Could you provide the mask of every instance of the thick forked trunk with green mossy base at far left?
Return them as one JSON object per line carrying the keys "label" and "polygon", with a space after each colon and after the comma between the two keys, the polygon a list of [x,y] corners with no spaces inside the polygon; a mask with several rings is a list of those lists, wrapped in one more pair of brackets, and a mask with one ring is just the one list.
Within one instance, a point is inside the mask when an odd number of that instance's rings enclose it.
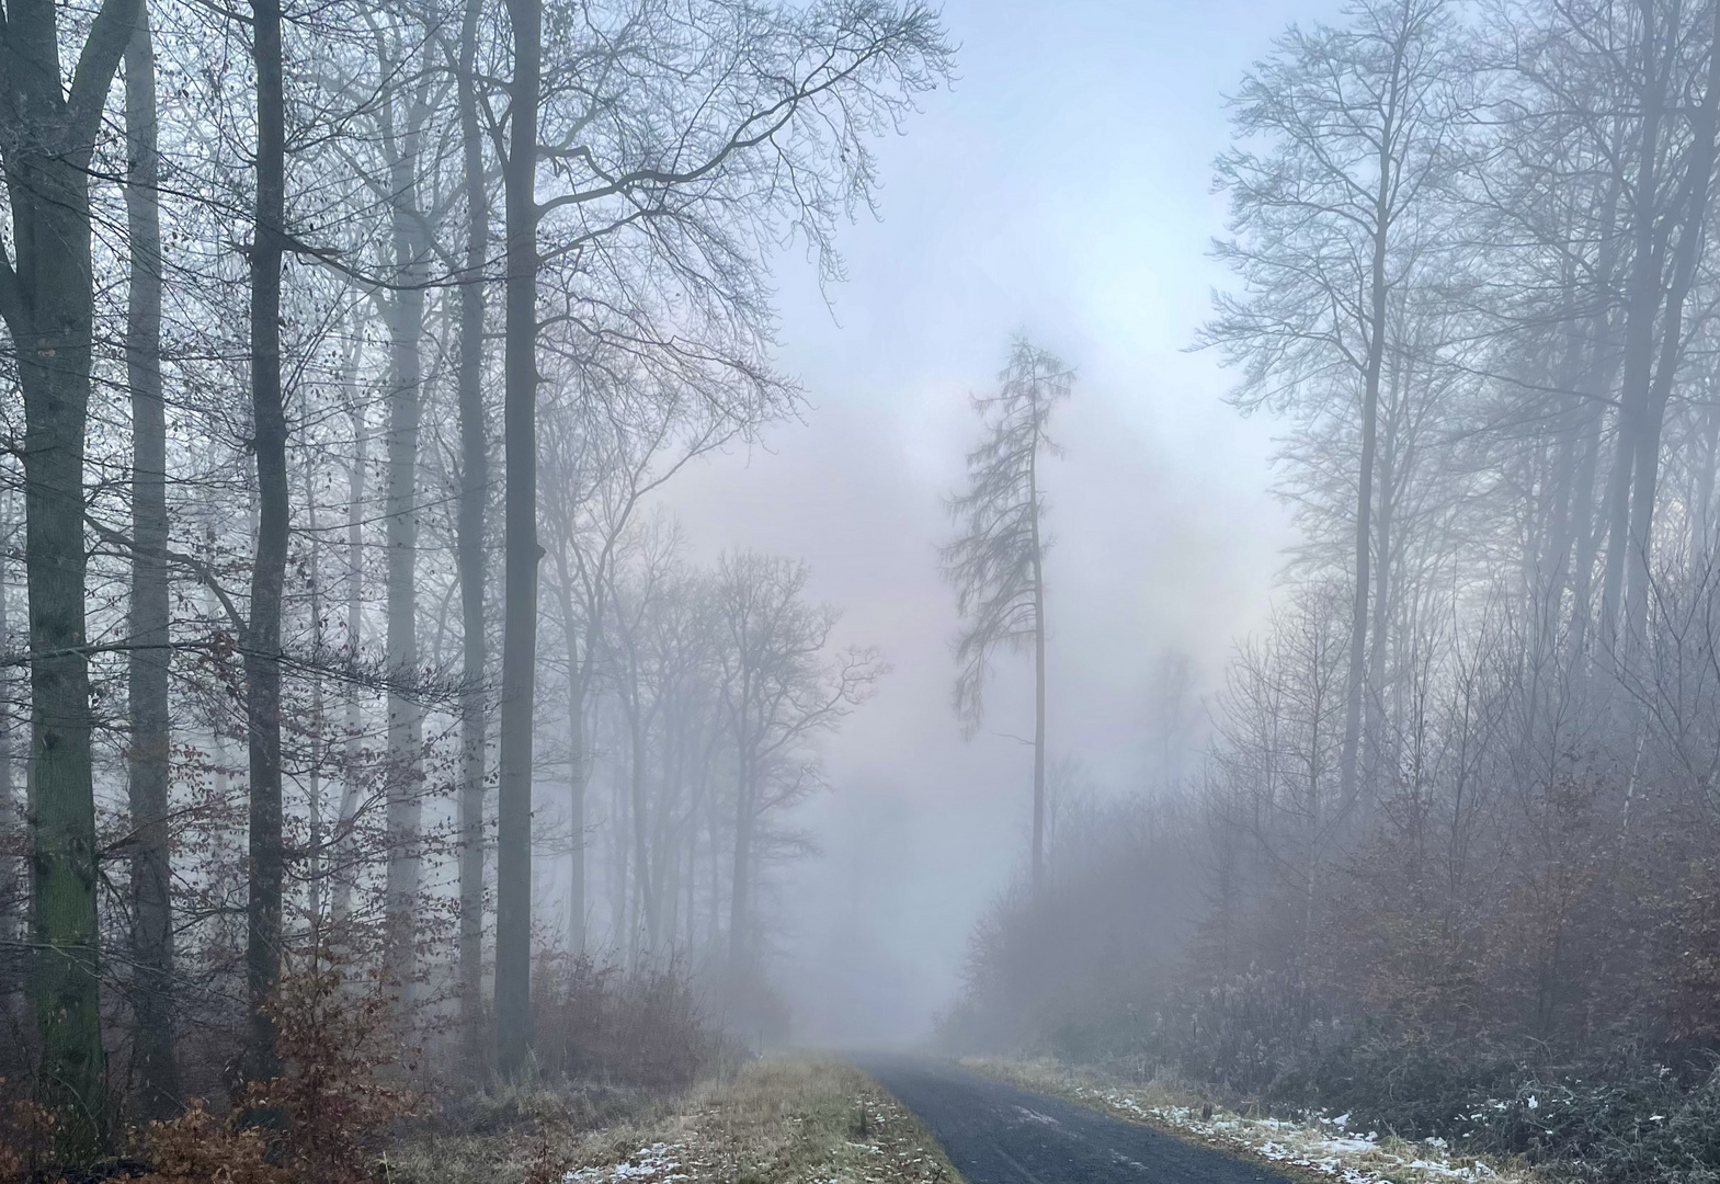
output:
{"label": "thick forked trunk with green mossy base at far left", "polygon": [[31,986],[41,1100],[60,1119],[60,1158],[84,1162],[107,1143],[84,649],[84,430],[95,336],[89,163],[138,10],[136,0],[103,0],[69,91],[58,12],[50,0],[14,0],[0,24],[9,81],[0,157],[14,244],[10,265],[0,256],[0,317],[10,329],[24,392]]}

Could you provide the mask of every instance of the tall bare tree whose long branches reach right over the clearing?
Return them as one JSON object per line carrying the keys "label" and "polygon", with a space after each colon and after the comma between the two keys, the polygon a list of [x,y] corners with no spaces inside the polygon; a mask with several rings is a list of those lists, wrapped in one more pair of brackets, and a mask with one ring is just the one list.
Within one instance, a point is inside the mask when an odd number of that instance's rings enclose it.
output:
{"label": "tall bare tree whose long branches reach right over the clearing", "polygon": [[[538,330],[616,342],[676,367],[769,382],[762,282],[774,227],[793,227],[836,277],[834,225],[870,200],[872,133],[948,72],[936,14],[913,2],[769,9],[709,0],[688,19],[642,0],[542,60],[544,12],[509,5],[514,36],[507,207],[504,444],[506,597],[497,893],[499,1065],[530,1045],[530,768],[537,637]],[[588,10],[581,10],[581,24]],[[592,79],[597,79],[593,84]],[[664,81],[669,79],[669,81]],[[538,120],[538,83],[544,120]],[[530,124],[530,126],[528,126]],[[556,188],[537,198],[537,162]],[[745,219],[736,219],[746,210]],[[540,251],[540,237],[542,251]],[[628,260],[642,253],[643,274]],[[609,263],[585,267],[593,256]],[[538,268],[568,277],[538,320]],[[609,286],[619,286],[619,291]],[[688,349],[688,318],[710,342]],[[709,336],[707,336],[709,334]]]}

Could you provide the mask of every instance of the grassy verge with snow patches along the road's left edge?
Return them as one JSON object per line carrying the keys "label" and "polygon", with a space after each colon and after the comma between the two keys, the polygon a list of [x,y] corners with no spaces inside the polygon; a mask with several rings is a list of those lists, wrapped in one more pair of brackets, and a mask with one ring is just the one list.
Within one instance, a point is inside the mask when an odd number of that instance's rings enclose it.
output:
{"label": "grassy verge with snow patches along the road's left edge", "polygon": [[576,1129],[420,1136],[392,1184],[961,1184],[937,1143],[863,1072],[767,1057],[671,1100]]}

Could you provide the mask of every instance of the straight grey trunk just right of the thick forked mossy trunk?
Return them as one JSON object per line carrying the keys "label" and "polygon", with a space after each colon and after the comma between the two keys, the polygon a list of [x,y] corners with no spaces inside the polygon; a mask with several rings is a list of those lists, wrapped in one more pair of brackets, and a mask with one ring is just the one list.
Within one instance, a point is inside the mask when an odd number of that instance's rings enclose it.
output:
{"label": "straight grey trunk just right of the thick forked mossy trunk", "polygon": [[131,902],[132,1043],[138,1110],[179,1108],[175,1060],[172,876],[167,793],[172,740],[167,711],[167,413],[162,404],[162,215],[155,146],[155,48],[150,15],[126,46],[126,222],[131,291],[126,379],[131,385]]}

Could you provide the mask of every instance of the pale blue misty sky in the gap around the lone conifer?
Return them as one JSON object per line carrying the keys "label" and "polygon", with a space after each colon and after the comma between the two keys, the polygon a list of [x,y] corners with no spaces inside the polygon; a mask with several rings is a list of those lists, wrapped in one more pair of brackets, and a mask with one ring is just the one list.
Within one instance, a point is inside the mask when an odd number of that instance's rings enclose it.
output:
{"label": "pale blue misty sky in the gap around the lone conifer", "polygon": [[834,792],[805,811],[824,857],[788,881],[781,977],[807,1039],[924,1031],[967,933],[1025,852],[1025,663],[999,671],[989,726],[948,709],[955,630],[936,547],[941,494],[974,441],[967,392],[1029,332],[1080,372],[1047,477],[1053,755],[1127,788],[1166,649],[1211,685],[1257,626],[1288,540],[1271,499],[1273,425],[1223,403],[1189,355],[1225,275],[1211,162],[1223,93],[1319,0],[949,3],[953,91],[879,146],[882,220],[841,239],[834,315],[798,256],[781,272],[786,370],[814,408],[767,451],[719,458],[667,501],[702,554],[805,558],[843,633],[894,666],[829,745]]}

